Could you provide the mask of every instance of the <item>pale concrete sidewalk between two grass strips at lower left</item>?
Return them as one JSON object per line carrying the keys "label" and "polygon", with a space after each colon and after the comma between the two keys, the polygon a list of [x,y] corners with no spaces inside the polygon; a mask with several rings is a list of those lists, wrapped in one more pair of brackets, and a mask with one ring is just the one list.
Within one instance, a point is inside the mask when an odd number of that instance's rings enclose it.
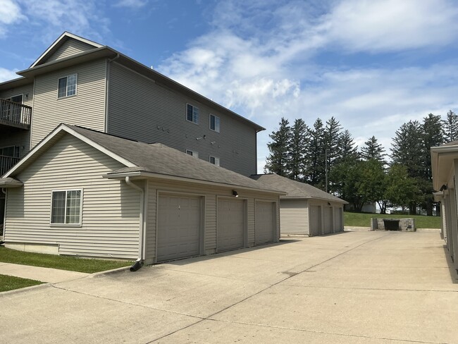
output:
{"label": "pale concrete sidewalk between two grass strips at lower left", "polygon": [[45,283],[60,283],[73,281],[78,278],[89,276],[83,272],[66,271],[39,266],[29,266],[0,262],[0,275],[30,278]]}

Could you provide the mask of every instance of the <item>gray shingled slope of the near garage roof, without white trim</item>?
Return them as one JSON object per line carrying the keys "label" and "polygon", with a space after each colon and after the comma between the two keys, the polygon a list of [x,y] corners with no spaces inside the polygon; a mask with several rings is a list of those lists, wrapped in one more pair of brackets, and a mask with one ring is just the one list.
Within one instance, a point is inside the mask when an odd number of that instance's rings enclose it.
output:
{"label": "gray shingled slope of the near garage roof, without white trim", "polygon": [[[163,176],[204,180],[244,188],[254,188],[256,190],[273,190],[268,185],[259,183],[252,178],[213,165],[202,159],[197,159],[185,152],[180,152],[177,149],[160,143],[147,144],[74,125],[67,126],[105,149],[108,149],[110,152],[135,164],[133,167],[126,166],[125,168],[113,171],[111,174],[144,171]],[[277,192],[276,190],[273,191]]]}

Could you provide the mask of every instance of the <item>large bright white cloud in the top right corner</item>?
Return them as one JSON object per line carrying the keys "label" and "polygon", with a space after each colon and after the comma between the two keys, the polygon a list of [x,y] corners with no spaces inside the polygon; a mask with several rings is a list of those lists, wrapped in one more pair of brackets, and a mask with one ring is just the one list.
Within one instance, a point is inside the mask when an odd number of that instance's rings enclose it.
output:
{"label": "large bright white cloud in the top right corner", "polygon": [[399,51],[457,39],[458,8],[449,0],[347,0],[322,25],[330,44],[349,51]]}

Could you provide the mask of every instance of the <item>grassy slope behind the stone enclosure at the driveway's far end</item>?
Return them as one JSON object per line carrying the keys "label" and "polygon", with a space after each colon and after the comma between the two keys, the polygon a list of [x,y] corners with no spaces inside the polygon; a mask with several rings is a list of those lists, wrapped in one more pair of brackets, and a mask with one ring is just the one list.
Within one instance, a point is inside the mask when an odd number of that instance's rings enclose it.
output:
{"label": "grassy slope behind the stone enclosure at the driveway's far end", "polygon": [[440,228],[441,218],[439,216],[423,215],[389,215],[389,214],[362,214],[344,212],[344,226],[370,227],[371,218],[377,219],[415,219],[416,228]]}

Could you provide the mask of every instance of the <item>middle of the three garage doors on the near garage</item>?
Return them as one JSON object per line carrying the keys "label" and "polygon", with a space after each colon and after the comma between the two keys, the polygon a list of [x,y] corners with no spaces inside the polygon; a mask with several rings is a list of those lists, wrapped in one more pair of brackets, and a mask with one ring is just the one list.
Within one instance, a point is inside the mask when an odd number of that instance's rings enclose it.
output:
{"label": "middle of the three garage doors on the near garage", "polygon": [[244,246],[245,206],[243,199],[218,199],[218,251]]}

